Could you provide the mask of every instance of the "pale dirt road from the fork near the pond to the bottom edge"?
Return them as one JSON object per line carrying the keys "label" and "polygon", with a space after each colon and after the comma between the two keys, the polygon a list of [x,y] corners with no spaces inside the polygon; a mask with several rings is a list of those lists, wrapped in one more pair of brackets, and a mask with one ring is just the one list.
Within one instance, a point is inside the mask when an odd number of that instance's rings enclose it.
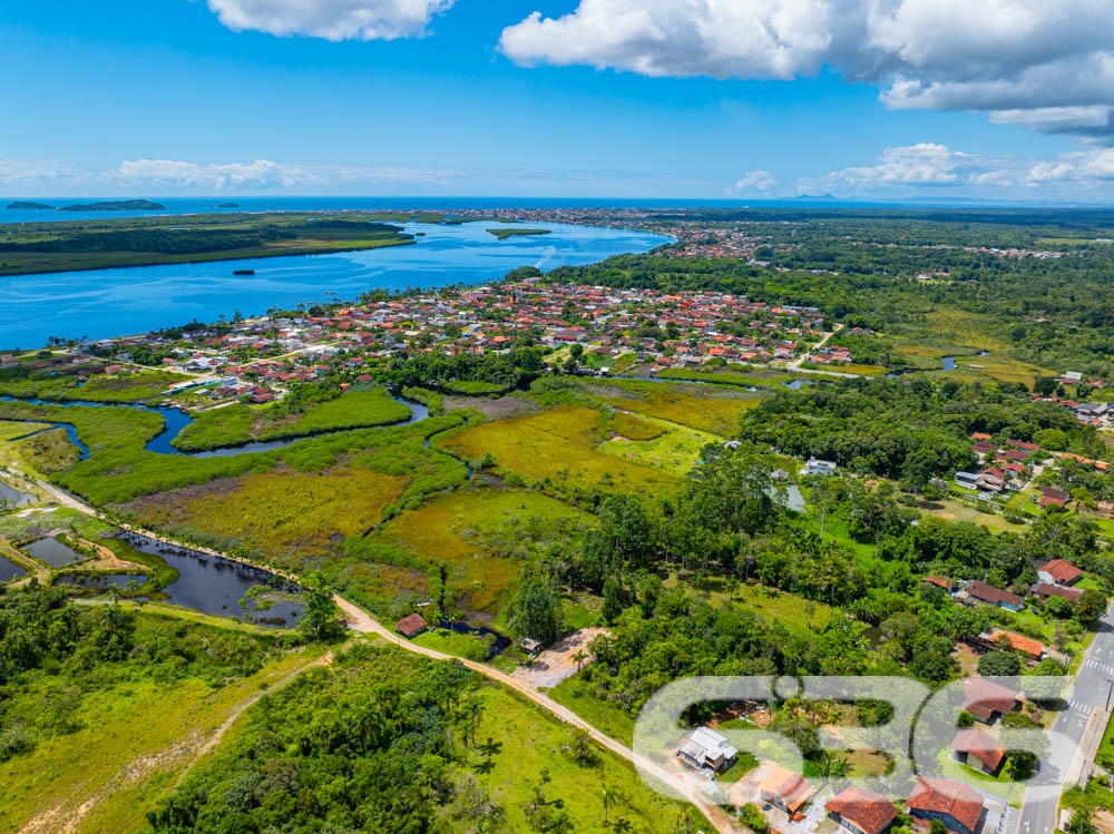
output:
{"label": "pale dirt road from the fork near the pond to the bottom edge", "polygon": [[700,810],[702,814],[712,823],[713,827],[720,832],[720,834],[736,834],[737,832],[746,831],[737,823],[735,823],[719,805],[709,801],[709,798],[701,792],[697,787],[694,787],[688,782],[683,778],[678,778],[677,774],[670,773],[661,765],[651,762],[645,756],[639,756],[637,753],[632,750],[626,745],[620,742],[615,740],[608,735],[600,733],[598,729],[593,727],[580,716],[574,713],[568,707],[558,704],[556,700],[550,698],[544,693],[539,693],[532,687],[526,686],[521,680],[512,678],[510,675],[506,675],[498,669],[492,669],[486,664],[476,663],[475,660],[466,660],[461,657],[456,657],[453,655],[446,655],[436,649],[426,648],[424,646],[418,646],[410,640],[404,640],[397,634],[393,634],[387,629],[385,626],[380,624],[378,620],[373,619],[371,615],[364,611],[362,608],[349,602],[346,599],[339,595],[333,596],[333,600],[336,602],[338,607],[344,614],[345,620],[348,620],[349,627],[353,631],[360,631],[362,634],[373,634],[382,637],[388,642],[395,644],[399,648],[405,649],[407,651],[412,651],[416,655],[422,655],[424,657],[432,658],[434,660],[458,660],[465,666],[467,666],[472,671],[479,673],[491,680],[496,680],[517,693],[520,693],[525,697],[529,698],[531,701],[540,706],[543,709],[551,713],[559,720],[565,724],[569,724],[574,727],[578,727],[588,733],[596,742],[602,744],[604,747],[609,749],[612,753],[622,756],[627,762],[633,764],[643,773],[649,773],[659,782],[668,785],[671,788],[676,791],[678,794],[685,797],[692,805]]}

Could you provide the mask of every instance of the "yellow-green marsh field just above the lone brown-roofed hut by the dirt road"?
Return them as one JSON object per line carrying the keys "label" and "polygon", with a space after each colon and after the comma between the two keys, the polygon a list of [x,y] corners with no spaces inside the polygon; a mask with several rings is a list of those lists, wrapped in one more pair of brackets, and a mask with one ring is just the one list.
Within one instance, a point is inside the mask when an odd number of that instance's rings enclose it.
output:
{"label": "yellow-green marsh field just above the lone brown-roofed hut by the dirt road", "polygon": [[408,510],[380,538],[447,568],[455,605],[494,615],[535,541],[577,537],[588,516],[525,490],[468,489]]}

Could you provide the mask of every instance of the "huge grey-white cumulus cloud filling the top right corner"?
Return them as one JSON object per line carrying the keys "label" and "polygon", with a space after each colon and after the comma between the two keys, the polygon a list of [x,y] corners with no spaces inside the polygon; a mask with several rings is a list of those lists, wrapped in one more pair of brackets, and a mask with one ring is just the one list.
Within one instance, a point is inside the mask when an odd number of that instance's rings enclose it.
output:
{"label": "huge grey-white cumulus cloud filling the top right corner", "polygon": [[522,65],[791,79],[829,66],[895,108],[1114,136],[1108,0],[580,0],[504,30]]}

